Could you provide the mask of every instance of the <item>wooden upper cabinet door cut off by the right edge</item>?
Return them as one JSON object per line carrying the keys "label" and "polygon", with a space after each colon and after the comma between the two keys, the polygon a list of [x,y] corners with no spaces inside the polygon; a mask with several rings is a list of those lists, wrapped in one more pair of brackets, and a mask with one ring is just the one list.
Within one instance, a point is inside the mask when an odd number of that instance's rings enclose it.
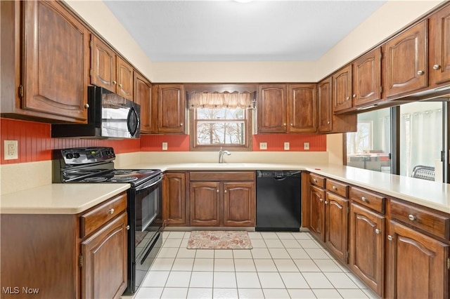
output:
{"label": "wooden upper cabinet door cut off by the right edge", "polygon": [[450,6],[439,9],[430,19],[430,84],[450,81]]}

